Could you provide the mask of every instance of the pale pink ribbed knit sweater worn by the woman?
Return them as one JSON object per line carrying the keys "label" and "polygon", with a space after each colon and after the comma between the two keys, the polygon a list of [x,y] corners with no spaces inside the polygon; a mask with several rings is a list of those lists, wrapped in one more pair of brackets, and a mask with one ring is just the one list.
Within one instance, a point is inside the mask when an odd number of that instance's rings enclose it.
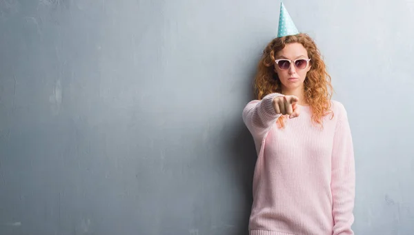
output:
{"label": "pale pink ribbed knit sweater worn by the woman", "polygon": [[324,117],[323,130],[312,123],[309,106],[280,129],[272,105],[279,95],[243,110],[258,156],[250,235],[354,234],[355,162],[344,106],[331,101],[334,116]]}

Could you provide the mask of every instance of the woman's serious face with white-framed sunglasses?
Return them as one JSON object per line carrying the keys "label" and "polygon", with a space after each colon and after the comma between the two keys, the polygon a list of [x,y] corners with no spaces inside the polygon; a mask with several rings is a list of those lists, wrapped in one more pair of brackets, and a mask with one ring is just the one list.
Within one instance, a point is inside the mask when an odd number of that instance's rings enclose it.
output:
{"label": "woman's serious face with white-framed sunglasses", "polygon": [[275,72],[282,83],[282,90],[291,92],[303,89],[306,74],[311,70],[311,61],[306,61],[308,52],[304,46],[301,43],[288,43],[275,55],[275,60],[279,60],[278,63],[275,61]]}

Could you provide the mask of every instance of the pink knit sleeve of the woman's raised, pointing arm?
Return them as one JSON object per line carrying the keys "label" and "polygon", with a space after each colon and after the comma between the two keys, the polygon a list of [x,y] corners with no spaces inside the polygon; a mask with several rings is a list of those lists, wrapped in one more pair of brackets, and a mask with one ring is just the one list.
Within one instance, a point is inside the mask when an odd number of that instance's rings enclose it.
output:
{"label": "pink knit sleeve of the woman's raised, pointing arm", "polygon": [[279,116],[282,116],[282,114],[276,114],[273,108],[273,99],[277,96],[283,96],[283,94],[268,94],[261,101],[250,101],[244,108],[243,121],[253,138],[263,139]]}

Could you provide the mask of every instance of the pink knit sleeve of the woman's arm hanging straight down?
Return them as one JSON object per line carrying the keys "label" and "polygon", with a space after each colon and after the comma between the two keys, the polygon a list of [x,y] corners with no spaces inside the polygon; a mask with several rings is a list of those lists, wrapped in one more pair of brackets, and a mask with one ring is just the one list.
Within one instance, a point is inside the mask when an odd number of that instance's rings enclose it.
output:
{"label": "pink knit sleeve of the woman's arm hanging straight down", "polygon": [[351,225],[354,222],[355,159],[346,110],[342,105],[341,108],[332,155],[333,235],[353,235]]}

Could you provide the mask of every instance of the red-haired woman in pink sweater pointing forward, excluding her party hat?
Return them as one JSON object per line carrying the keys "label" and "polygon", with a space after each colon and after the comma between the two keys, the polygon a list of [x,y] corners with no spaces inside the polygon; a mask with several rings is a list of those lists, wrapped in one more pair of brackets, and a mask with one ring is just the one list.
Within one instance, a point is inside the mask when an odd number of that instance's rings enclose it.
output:
{"label": "red-haired woman in pink sweater pointing forward, excluding her party hat", "polygon": [[277,37],[258,67],[243,110],[258,156],[250,235],[354,234],[351,130],[315,42]]}

